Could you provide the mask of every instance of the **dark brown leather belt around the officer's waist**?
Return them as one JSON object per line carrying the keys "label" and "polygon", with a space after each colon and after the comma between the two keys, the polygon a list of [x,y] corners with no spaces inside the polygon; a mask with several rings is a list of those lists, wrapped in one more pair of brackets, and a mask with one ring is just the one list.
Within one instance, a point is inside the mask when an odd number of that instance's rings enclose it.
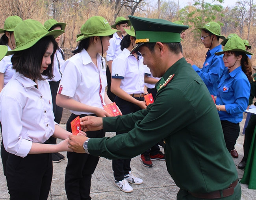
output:
{"label": "dark brown leather belt around the officer's waist", "polygon": [[188,193],[196,198],[204,198],[204,199],[216,199],[216,198],[227,197],[234,194],[234,188],[236,187],[237,183],[238,183],[238,179],[233,183],[231,183],[227,189],[214,191],[211,193],[191,193],[189,191]]}

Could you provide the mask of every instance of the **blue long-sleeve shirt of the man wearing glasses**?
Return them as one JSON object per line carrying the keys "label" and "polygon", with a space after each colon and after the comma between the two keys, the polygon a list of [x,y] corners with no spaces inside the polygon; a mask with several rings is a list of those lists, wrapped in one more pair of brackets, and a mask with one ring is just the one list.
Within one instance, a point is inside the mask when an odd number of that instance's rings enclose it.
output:
{"label": "blue long-sleeve shirt of the man wearing glasses", "polygon": [[216,56],[214,53],[222,51],[221,45],[208,51],[202,69],[192,65],[193,69],[202,78],[210,94],[217,95],[217,87],[224,70],[223,54]]}

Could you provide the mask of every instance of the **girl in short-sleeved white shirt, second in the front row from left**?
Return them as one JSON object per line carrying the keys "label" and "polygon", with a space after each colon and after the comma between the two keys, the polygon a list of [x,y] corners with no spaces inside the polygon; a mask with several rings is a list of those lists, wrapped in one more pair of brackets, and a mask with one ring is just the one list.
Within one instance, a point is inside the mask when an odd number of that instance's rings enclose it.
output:
{"label": "girl in short-sleeved white shirt, second in the front row from left", "polygon": [[[64,63],[64,72],[56,97],[57,105],[71,111],[67,121],[67,131],[71,132],[70,122],[76,117],[94,115],[110,116],[103,106],[112,103],[105,87],[106,67],[103,54],[109,46],[109,39],[117,30],[111,29],[108,21],[100,16],[89,18],[78,35],[78,47],[74,56]],[[104,137],[105,131],[88,131],[90,137]],[[69,200],[90,200],[91,176],[99,157],[89,154],[67,153],[68,164],[65,175],[65,189]]]}

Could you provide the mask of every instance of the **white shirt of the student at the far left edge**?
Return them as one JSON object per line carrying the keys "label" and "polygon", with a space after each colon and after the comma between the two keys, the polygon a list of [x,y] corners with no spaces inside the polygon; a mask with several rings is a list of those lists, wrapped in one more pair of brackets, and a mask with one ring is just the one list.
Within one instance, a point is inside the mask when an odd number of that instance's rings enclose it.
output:
{"label": "white shirt of the student at the far left edge", "polygon": [[[11,48],[7,45],[8,51],[11,51]],[[13,77],[13,74],[15,73],[15,70],[12,69],[13,64],[11,63],[11,57],[10,56],[5,56],[1,61],[0,61],[0,73],[4,74],[4,86],[11,80]]]}

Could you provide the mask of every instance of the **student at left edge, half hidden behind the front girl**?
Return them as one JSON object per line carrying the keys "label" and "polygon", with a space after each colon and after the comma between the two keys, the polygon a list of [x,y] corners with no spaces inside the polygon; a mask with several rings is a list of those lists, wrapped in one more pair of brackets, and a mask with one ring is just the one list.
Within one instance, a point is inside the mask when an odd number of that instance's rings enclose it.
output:
{"label": "student at left edge, half hidden behind the front girl", "polygon": [[[17,16],[10,16],[4,21],[4,28],[0,28],[0,33],[4,33],[0,39],[0,45],[6,45],[8,50],[13,50],[15,48],[15,38],[13,30],[17,24],[22,22],[22,19]],[[15,70],[12,69],[11,56],[5,56],[0,61],[0,92],[4,86],[11,80]],[[2,124],[0,122],[0,127],[2,130]],[[2,135],[2,131],[1,131]],[[4,148],[3,140],[1,141],[1,158],[3,163],[4,175],[6,175],[6,160],[8,158],[8,152]]]}

